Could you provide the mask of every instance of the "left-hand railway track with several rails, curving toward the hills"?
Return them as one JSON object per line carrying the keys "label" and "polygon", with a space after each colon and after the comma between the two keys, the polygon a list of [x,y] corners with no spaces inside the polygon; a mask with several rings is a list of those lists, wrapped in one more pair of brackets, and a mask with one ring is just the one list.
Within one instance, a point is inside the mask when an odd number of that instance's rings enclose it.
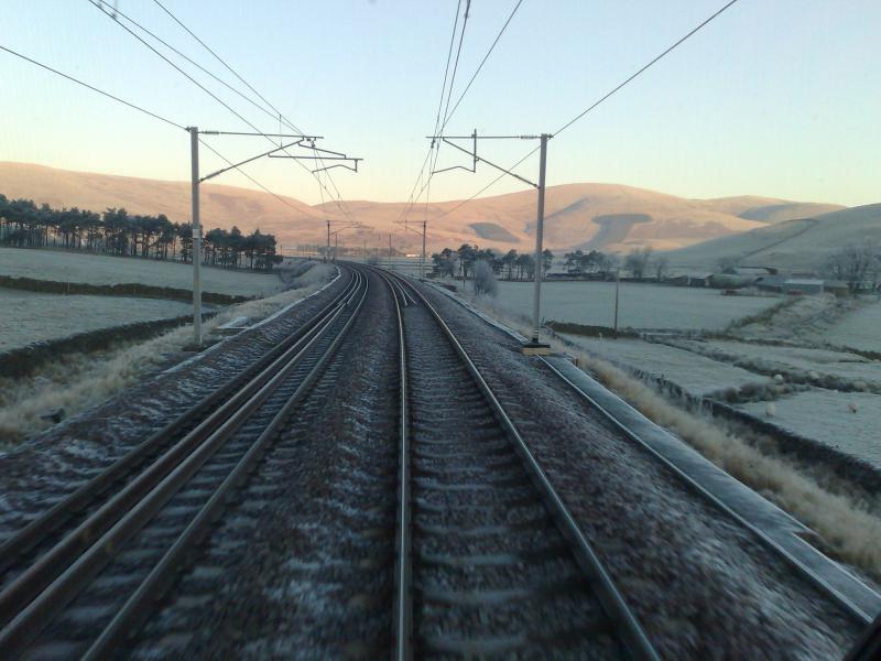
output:
{"label": "left-hand railway track with several rails, curving toward the hills", "polygon": [[344,291],[259,365],[0,550],[3,658],[105,658],[149,614],[326,367],[368,293]]}

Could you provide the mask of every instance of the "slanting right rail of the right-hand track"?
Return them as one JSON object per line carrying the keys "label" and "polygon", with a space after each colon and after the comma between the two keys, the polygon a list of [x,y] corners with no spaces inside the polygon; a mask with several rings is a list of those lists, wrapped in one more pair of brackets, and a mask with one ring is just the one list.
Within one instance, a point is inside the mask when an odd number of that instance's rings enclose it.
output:
{"label": "slanting right rail of the right-hand track", "polygon": [[435,310],[435,307],[422,294],[422,292],[420,292],[415,286],[413,286],[412,283],[407,282],[400,275],[392,274],[392,277],[399,282],[403,283],[413,294],[415,294],[415,299],[429,312],[432,317],[435,319],[435,322],[437,322],[438,326],[443,330],[444,335],[449,340],[456,354],[459,356],[459,358],[461,358],[467,371],[471,375],[471,378],[474,379],[478,389],[482,392],[485,399],[493,411],[493,414],[514,446],[514,449],[523,459],[524,466],[526,467],[533,484],[542,495],[546,507],[554,516],[561,532],[572,544],[572,550],[579,565],[592,579],[600,605],[606,611],[607,617],[609,617],[611,620],[626,652],[634,660],[660,661],[657,652],[652,647],[635,616],[628,607],[623,596],[614,586],[611,576],[606,571],[596,552],[590,546],[586,535],[575,521],[575,518],[568,511],[568,508],[566,508],[566,505],[563,502],[563,499],[559,497],[556,489],[554,489],[541,465],[535,459],[532,451],[530,451],[516,426],[505,413],[501,403],[496,398],[496,394],[483,379],[483,376],[471,360],[465,347],[461,346],[456,335],[453,333],[446,322],[444,322],[437,310]]}

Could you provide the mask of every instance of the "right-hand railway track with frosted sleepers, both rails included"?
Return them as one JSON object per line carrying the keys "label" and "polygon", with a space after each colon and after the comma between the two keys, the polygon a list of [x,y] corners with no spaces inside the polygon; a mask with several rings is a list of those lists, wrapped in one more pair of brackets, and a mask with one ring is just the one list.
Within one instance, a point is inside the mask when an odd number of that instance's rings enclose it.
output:
{"label": "right-hand railway track with frosted sleepers, both rails included", "polygon": [[656,659],[455,335],[384,278],[401,371],[393,658]]}

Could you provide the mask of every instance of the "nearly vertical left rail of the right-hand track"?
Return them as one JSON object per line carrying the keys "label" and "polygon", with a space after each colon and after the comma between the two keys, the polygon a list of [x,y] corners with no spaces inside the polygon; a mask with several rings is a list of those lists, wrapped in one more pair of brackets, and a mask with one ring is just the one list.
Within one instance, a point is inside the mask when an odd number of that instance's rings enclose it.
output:
{"label": "nearly vertical left rail of the right-hand track", "polygon": [[[406,342],[404,338],[404,317],[401,314],[401,301],[407,306],[407,299],[403,288],[395,280],[383,272],[380,275],[389,285],[394,302],[395,318],[398,319],[398,368],[399,368],[399,458],[398,458],[398,530],[395,537],[396,566],[394,572],[394,649],[392,659],[395,661],[410,661],[413,659],[413,598],[412,583],[413,570],[411,564],[411,532],[412,520],[410,507],[410,407],[407,403],[406,379]],[[395,290],[395,284],[398,288]]]}

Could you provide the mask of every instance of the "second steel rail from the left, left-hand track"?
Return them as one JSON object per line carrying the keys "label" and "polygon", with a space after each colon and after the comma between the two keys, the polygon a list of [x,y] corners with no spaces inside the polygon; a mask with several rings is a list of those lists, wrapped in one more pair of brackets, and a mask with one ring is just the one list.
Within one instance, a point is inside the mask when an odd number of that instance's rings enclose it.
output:
{"label": "second steel rail from the left, left-hand track", "polygon": [[88,549],[129,508],[167,476],[184,457],[193,453],[217,430],[222,429],[225,422],[246,405],[254,393],[260,392],[267,383],[271,382],[274,376],[303,350],[304,346],[311,344],[326,325],[333,323],[333,318],[338,314],[342,302],[339,302],[333,306],[329,312],[318,318],[316,324],[312,325],[305,334],[265,367],[263,371],[231,398],[227,399],[196,429],[184,435],[176,444],[160,455],[155,462],[112,495],[100,508],[90,513],[79,525],[67,533],[66,537],[41,555],[0,592],[0,625],[4,625],[12,619],[20,611],[22,605],[32,602],[43,588],[57,578],[75,561],[79,553]]}

